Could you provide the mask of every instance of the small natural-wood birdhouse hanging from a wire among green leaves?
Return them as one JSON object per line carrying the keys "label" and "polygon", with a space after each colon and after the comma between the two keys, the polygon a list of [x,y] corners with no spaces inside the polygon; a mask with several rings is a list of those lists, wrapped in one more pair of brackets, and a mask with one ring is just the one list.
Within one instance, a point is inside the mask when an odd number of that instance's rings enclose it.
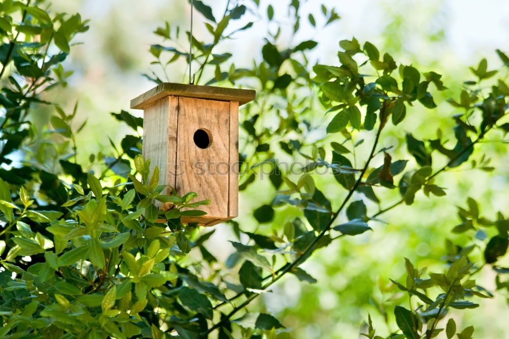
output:
{"label": "small natural-wood birdhouse hanging from a wire among green leaves", "polygon": [[[131,100],[143,109],[143,156],[159,185],[177,194],[195,192],[207,212],[183,223],[211,226],[238,216],[238,110],[255,92],[192,84],[161,83]],[[171,194],[168,187],[166,194]],[[171,204],[161,204],[169,210]]]}

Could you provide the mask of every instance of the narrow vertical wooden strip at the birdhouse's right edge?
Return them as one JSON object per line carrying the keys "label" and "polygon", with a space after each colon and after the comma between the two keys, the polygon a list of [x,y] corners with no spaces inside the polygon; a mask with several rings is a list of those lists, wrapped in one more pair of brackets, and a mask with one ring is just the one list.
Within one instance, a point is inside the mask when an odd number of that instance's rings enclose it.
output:
{"label": "narrow vertical wooden strip at the birdhouse's right edge", "polygon": [[230,178],[228,216],[239,215],[239,102],[230,102]]}

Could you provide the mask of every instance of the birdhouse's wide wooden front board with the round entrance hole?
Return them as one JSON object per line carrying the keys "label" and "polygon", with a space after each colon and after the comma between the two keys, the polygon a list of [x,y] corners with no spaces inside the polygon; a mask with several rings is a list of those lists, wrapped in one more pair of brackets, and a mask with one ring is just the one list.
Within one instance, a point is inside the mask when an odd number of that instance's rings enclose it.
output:
{"label": "birdhouse's wide wooden front board with the round entrance hole", "polygon": [[[207,131],[211,138],[205,149],[197,147],[193,140],[199,129]],[[229,133],[230,102],[179,98],[177,192],[196,192],[199,200],[210,199],[210,205],[199,208],[210,217],[228,217]]]}

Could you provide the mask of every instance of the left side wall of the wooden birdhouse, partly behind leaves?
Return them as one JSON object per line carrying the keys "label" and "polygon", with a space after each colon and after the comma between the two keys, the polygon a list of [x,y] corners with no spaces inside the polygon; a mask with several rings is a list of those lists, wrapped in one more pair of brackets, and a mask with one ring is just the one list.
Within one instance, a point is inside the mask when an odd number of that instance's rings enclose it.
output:
{"label": "left side wall of the wooden birdhouse, partly behind leaves", "polygon": [[[159,168],[159,185],[175,187],[176,177],[172,168],[176,163],[177,126],[178,126],[178,97],[168,96],[160,99],[144,109],[143,120],[143,157],[150,159],[150,171],[155,166]],[[167,189],[166,194],[171,193]],[[171,208],[171,205],[162,206],[162,209]]]}

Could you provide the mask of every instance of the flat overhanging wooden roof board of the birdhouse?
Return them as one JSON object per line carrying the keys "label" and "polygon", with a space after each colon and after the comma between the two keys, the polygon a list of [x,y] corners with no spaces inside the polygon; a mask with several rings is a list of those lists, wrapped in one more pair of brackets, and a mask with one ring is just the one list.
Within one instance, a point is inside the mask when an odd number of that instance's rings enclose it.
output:
{"label": "flat overhanging wooden roof board of the birdhouse", "polygon": [[252,90],[215,86],[197,86],[191,84],[163,82],[150,91],[132,99],[131,108],[143,109],[148,104],[168,95],[220,101],[238,101],[240,105],[243,105],[254,100],[256,92]]}

